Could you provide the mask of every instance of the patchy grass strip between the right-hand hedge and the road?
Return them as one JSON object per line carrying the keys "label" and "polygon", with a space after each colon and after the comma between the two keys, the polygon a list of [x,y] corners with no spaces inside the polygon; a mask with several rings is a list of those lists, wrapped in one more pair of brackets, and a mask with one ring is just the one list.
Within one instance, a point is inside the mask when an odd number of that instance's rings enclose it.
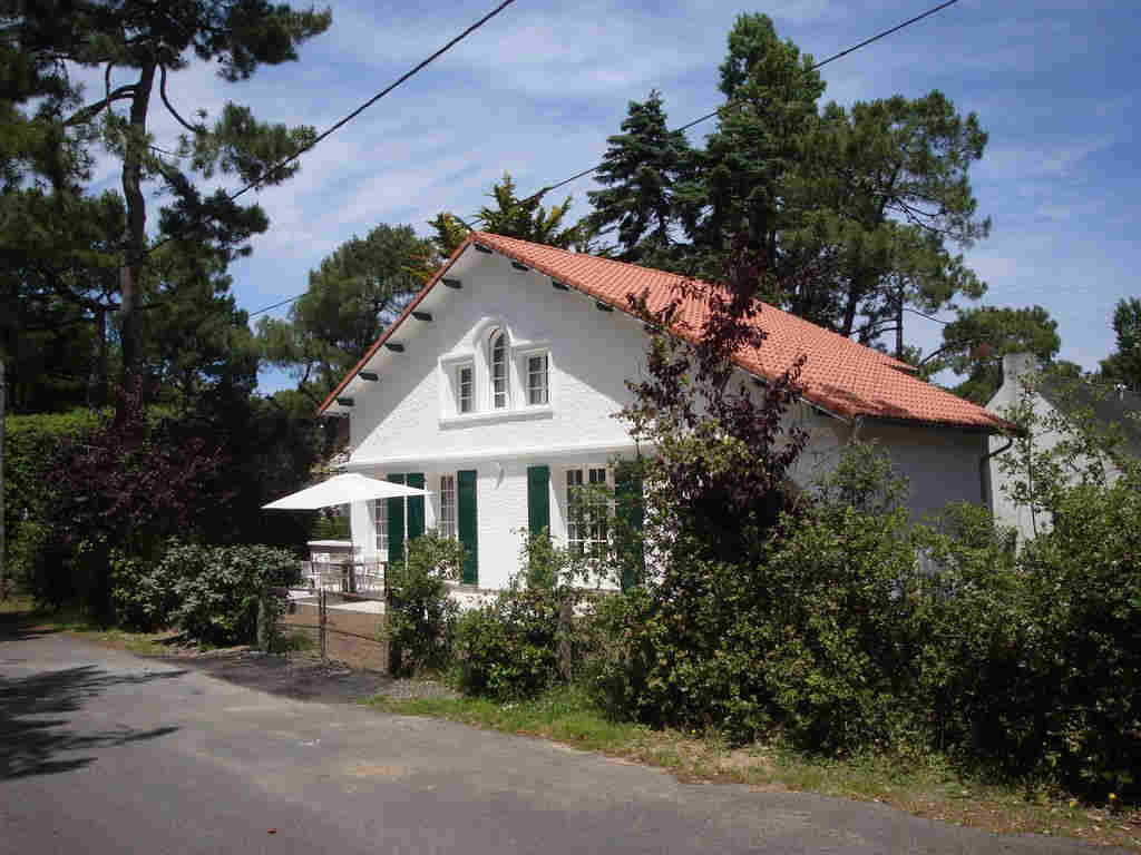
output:
{"label": "patchy grass strip between the right-hand hedge and the road", "polygon": [[396,715],[556,740],[588,751],[669,769],[682,781],[743,783],[891,805],[915,816],[996,833],[1038,833],[1141,852],[1141,811],[1085,805],[1026,782],[965,775],[941,756],[883,754],[844,759],[806,756],[777,744],[729,748],[696,732],[614,722],[582,690],[563,686],[532,700],[377,695],[367,703]]}

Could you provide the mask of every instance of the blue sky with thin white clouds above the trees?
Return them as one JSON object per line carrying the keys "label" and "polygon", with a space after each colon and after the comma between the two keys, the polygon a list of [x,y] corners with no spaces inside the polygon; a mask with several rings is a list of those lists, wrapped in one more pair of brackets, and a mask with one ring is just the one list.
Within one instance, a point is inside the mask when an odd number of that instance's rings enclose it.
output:
{"label": "blue sky with thin white clouds above the trees", "polygon": [[[767,13],[782,38],[823,58],[933,5],[517,0],[305,155],[294,179],[258,195],[270,229],[232,268],[238,304],[253,311],[304,292],[309,269],[379,222],[427,234],[442,210],[472,213],[504,170],[529,193],[597,163],[628,103],[650,89],[673,127],[712,111],[739,13]],[[241,84],[192,65],[170,93],[184,114],[235,100],[262,120],[324,129],[491,6],[334,1],[332,27],[302,48],[301,62]],[[1060,356],[1086,368],[1112,349],[1114,304],[1141,293],[1132,239],[1141,26],[1130,6],[960,0],[822,70],[824,100],[939,89],[978,113],[990,140],[972,181],[979,212],[994,220],[990,237],[966,252],[989,284],[981,302],[1044,306],[1059,321]],[[159,111],[155,141],[172,142],[177,127]],[[712,124],[690,138],[701,142]],[[118,184],[112,168],[102,164],[102,178]],[[589,210],[592,188],[590,179],[566,188],[572,215]],[[937,347],[938,324],[908,323],[912,341]],[[292,385],[280,372],[260,380],[264,391]]]}

